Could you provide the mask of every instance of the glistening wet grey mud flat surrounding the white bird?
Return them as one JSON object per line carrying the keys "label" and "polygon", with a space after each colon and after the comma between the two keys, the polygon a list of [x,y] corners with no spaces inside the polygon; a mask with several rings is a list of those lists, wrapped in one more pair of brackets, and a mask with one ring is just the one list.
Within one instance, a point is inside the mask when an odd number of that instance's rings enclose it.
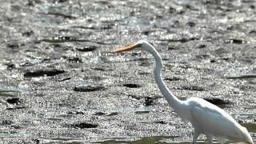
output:
{"label": "glistening wet grey mud flat surrounding the white bird", "polygon": [[[256,2],[1,0],[1,143],[190,143],[168,106],[147,39],[178,98],[205,98],[256,139]],[[200,142],[204,137],[201,137]]]}

